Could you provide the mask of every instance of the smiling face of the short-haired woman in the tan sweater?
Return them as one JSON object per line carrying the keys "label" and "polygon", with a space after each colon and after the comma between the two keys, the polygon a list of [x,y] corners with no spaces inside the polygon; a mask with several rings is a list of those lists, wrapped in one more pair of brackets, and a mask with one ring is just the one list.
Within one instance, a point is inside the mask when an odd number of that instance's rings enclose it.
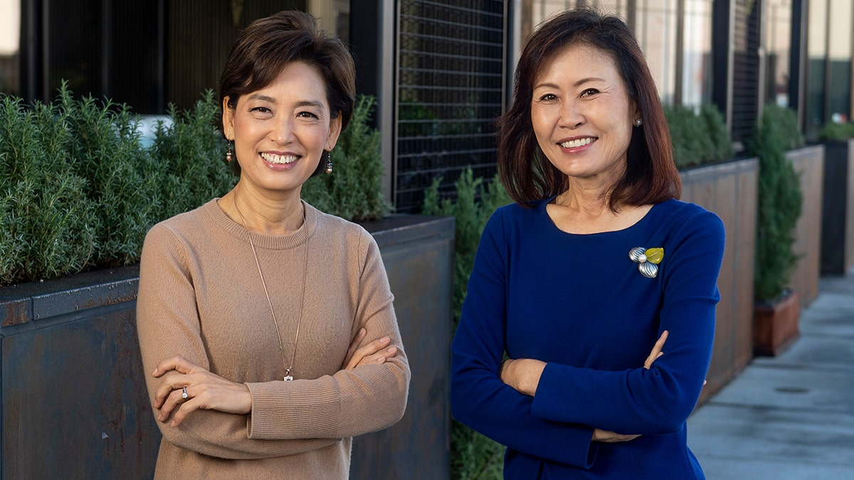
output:
{"label": "smiling face of the short-haired woman in the tan sweater", "polygon": [[258,91],[242,95],[235,108],[223,101],[225,138],[234,140],[244,186],[299,196],[324,150],[335,147],[341,115],[330,118],[323,77],[301,61]]}

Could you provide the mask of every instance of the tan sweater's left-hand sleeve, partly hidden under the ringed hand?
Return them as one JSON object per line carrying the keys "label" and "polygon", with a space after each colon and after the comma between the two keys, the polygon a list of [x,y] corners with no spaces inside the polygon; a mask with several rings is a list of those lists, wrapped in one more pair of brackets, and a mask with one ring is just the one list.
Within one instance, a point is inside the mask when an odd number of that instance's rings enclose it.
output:
{"label": "tan sweater's left-hand sleeve, partly hidden under the ringed hand", "polygon": [[[175,355],[210,369],[200,331],[196,295],[184,245],[163,225],[145,238],[137,296],[137,333],[149,397],[169,375],[151,375],[162,360]],[[156,415],[156,410],[155,410]],[[340,439],[302,436],[292,440],[257,440],[246,435],[248,415],[197,410],[178,427],[157,422],[167,442],[224,459],[263,459],[301,454]]]}

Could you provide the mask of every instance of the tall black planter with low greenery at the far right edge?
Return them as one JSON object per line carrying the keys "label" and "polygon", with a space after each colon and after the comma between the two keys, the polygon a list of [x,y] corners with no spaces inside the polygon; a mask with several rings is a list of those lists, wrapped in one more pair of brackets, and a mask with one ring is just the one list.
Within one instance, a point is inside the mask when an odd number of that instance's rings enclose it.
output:
{"label": "tall black planter with low greenery at the far right edge", "polygon": [[854,266],[854,123],[828,123],[824,143],[822,273],[843,274]]}

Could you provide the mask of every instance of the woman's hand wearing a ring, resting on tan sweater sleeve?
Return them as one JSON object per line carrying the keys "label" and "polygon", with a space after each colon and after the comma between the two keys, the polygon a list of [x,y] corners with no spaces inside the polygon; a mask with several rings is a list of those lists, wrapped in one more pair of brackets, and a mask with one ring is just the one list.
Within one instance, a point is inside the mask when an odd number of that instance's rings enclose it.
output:
{"label": "woman's hand wearing a ring, resting on tan sweater sleeve", "polygon": [[167,375],[155,392],[155,408],[160,409],[157,419],[161,422],[167,421],[174,412],[173,427],[200,408],[225,413],[252,411],[249,387],[219,377],[181,357],[161,361],[153,375],[158,378]]}

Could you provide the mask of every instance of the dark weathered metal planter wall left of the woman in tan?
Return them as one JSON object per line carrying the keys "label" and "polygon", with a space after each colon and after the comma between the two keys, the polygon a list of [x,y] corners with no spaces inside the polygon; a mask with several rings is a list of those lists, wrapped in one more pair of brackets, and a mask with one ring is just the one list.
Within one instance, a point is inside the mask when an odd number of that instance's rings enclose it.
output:
{"label": "dark weathered metal planter wall left of the woman in tan", "polygon": [[0,289],[3,478],[150,478],[138,270]]}

